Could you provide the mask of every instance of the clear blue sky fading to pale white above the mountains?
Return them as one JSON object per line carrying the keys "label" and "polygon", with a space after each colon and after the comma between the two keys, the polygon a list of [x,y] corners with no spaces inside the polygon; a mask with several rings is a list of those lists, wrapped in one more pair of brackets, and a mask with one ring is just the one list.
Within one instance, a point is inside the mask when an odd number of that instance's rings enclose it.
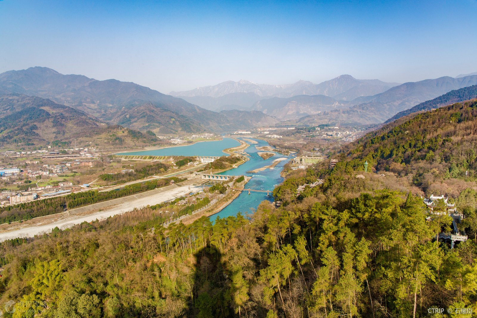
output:
{"label": "clear blue sky fading to pale white above the mountains", "polygon": [[477,72],[477,0],[0,0],[0,73],[46,66],[160,92],[223,81]]}

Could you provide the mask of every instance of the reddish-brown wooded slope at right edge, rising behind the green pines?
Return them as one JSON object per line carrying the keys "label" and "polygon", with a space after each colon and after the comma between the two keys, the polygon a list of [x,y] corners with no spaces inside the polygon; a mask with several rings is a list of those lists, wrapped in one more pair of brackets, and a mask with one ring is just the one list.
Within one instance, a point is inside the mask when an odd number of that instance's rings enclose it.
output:
{"label": "reddish-brown wooded slope at right edge, rising behind the green pines", "polygon": [[423,191],[447,191],[438,185],[445,187],[450,178],[475,180],[476,149],[477,101],[467,101],[403,117],[367,134],[343,148],[341,156],[348,160],[337,169],[363,170],[367,159],[376,170],[412,176]]}

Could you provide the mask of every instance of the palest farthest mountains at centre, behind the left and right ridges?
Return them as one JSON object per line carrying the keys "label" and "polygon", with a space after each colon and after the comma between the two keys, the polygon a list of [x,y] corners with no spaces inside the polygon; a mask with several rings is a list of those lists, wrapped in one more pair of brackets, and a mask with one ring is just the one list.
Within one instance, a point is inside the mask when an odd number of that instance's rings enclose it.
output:
{"label": "palest farthest mountains at centre, behind the left and right ridges", "polygon": [[399,84],[341,75],[320,84],[298,81],[288,85],[267,85],[246,80],[227,81],[170,94],[213,111],[260,110],[281,120],[288,120],[353,106],[356,98],[382,93],[396,85]]}

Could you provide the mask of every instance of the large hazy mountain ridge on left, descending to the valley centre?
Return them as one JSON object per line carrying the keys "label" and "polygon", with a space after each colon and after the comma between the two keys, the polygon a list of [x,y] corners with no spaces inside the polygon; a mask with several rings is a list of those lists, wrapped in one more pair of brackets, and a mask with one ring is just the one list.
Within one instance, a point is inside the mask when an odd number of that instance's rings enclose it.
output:
{"label": "large hazy mountain ridge on left, descending to the valley centre", "polygon": [[237,122],[187,101],[159,93],[145,86],[114,79],[98,81],[83,75],[64,75],[46,67],[0,74],[0,94],[19,93],[49,98],[82,110],[108,124],[119,124],[156,133],[230,131],[261,125],[249,113],[249,120]]}

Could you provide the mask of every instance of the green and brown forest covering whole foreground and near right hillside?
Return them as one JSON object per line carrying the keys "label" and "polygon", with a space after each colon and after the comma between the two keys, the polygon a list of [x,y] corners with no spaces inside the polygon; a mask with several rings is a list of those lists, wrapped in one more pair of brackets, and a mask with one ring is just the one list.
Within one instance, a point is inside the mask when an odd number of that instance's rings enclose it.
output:
{"label": "green and brown forest covering whole foreground and near right hillside", "polygon": [[[3,242],[0,305],[15,302],[5,317],[471,317],[447,309],[477,311],[476,142],[477,103],[458,103],[342,147],[332,170],[290,170],[278,208],[164,228],[149,207]],[[435,240],[449,220],[426,221],[420,197],[441,193],[466,216],[453,249]]]}

